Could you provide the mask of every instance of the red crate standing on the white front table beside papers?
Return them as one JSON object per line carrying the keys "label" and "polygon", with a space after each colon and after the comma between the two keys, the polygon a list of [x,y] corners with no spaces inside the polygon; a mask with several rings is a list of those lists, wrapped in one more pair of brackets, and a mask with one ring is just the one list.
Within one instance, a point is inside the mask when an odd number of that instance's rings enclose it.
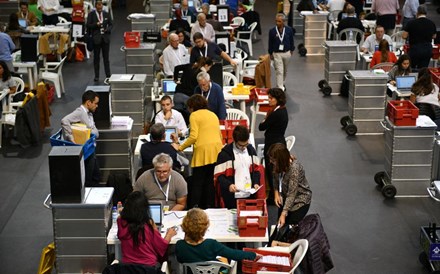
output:
{"label": "red crate standing on the white front table beside papers", "polygon": [[[241,216],[241,211],[260,210],[262,216]],[[264,237],[267,231],[266,200],[237,200],[237,227],[240,237]]]}

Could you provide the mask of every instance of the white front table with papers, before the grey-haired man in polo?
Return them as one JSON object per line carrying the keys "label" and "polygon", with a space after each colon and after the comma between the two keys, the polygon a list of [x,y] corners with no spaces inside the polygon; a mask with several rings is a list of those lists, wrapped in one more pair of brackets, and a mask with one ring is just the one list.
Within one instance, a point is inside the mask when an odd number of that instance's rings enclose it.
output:
{"label": "white front table with papers, before the grey-haired man in polo", "polygon": [[[226,208],[211,208],[206,209],[205,212],[208,214],[210,222],[205,238],[216,239],[222,243],[262,243],[266,242],[268,239],[267,230],[264,237],[240,237],[238,235],[236,214],[234,214],[234,210],[228,210]],[[178,240],[184,238],[185,234],[180,225],[185,215],[186,211],[168,211],[164,213],[163,226],[161,229],[162,237],[165,236],[168,228],[173,226],[178,227],[177,235],[171,239],[170,244],[176,244]],[[117,234],[118,227],[113,223],[107,236],[107,245],[114,246],[115,259],[120,260],[122,257],[121,244]]]}

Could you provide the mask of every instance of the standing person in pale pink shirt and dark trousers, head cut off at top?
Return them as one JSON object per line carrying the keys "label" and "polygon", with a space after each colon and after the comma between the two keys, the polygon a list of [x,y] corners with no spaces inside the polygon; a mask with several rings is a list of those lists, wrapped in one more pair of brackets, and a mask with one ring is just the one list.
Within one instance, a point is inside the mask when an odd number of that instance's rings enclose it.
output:
{"label": "standing person in pale pink shirt and dark trousers, head cut off at top", "polygon": [[383,26],[388,35],[393,34],[399,8],[399,0],[373,0],[371,12],[377,14],[376,24]]}

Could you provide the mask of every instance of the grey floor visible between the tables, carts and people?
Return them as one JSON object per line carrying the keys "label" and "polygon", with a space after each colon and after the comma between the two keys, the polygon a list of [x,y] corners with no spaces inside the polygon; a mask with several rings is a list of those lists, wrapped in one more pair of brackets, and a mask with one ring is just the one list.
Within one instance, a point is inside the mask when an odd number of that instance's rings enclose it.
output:
{"label": "grey floor visible between the tables, carts and people", "polygon": [[[112,73],[124,73],[119,47],[130,28],[125,18],[141,12],[141,2],[127,1],[127,9],[114,10]],[[263,29],[254,47],[258,56],[267,49],[276,1],[258,0],[256,10]],[[434,15],[433,6],[429,11]],[[438,26],[439,18],[435,14]],[[42,205],[49,193],[48,138],[60,127],[60,119],[80,104],[85,87],[93,84],[93,64],[70,63],[63,73],[67,93],[51,106],[52,128],[42,145],[22,149],[7,141],[0,150],[0,273],[35,273],[41,249],[52,241],[51,212]],[[383,137],[347,137],[339,124],[347,115],[346,99],[323,98],[317,88],[322,78],[322,57],[301,58],[295,52],[286,83],[287,135],[296,136],[294,152],[313,190],[310,212],[320,214],[330,240],[335,263],[331,273],[428,273],[417,259],[419,229],[440,223],[439,204],[428,198],[383,198],[373,181],[383,170]],[[261,133],[256,137],[262,142]]]}

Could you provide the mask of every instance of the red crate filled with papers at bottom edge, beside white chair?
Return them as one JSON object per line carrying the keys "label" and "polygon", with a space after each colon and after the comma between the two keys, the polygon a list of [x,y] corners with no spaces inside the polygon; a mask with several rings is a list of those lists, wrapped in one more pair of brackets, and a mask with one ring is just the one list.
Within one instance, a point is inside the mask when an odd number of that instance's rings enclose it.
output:
{"label": "red crate filled with papers at bottom edge, beside white chair", "polygon": [[292,257],[290,253],[283,253],[283,252],[275,252],[270,250],[260,250],[260,249],[253,249],[253,248],[243,248],[244,251],[250,251],[255,252],[258,254],[261,254],[263,256],[271,255],[271,256],[279,256],[279,257],[288,257],[290,265],[279,265],[279,264],[270,264],[270,263],[263,263],[263,262],[257,262],[251,261],[251,260],[243,260],[242,261],[242,271],[245,274],[255,274],[257,271],[263,270],[263,271],[275,271],[275,272],[289,272],[293,268],[293,262]]}

